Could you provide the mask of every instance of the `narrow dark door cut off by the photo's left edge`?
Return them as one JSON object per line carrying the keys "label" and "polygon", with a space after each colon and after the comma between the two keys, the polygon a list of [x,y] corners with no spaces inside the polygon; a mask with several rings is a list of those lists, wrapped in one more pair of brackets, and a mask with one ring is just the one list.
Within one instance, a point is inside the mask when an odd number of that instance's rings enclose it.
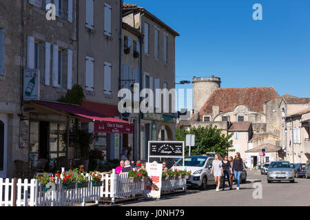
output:
{"label": "narrow dark door cut off by the photo's left edge", "polygon": [[7,146],[8,144],[8,117],[0,114],[0,178],[6,178]]}

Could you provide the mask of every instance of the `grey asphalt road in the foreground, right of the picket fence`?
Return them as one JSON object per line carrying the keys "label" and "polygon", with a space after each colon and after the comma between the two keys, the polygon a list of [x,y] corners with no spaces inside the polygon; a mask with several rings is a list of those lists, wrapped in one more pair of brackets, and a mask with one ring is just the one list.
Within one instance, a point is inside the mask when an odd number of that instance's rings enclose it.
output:
{"label": "grey asphalt road in the foreground, right of the picket fence", "polygon": [[310,179],[298,178],[296,183],[267,183],[260,170],[248,170],[247,179],[261,179],[262,199],[254,199],[254,184],[241,184],[240,190],[216,192],[215,186],[207,190],[191,189],[176,195],[167,195],[160,201],[133,201],[122,206],[310,206]]}

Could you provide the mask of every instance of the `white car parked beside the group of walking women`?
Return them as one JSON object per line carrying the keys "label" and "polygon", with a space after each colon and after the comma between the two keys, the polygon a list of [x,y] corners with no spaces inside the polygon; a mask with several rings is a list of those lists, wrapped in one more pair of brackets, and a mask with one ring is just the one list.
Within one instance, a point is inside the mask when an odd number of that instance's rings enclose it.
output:
{"label": "white car parked beside the group of walking women", "polygon": [[[206,156],[188,156],[185,157],[185,166],[183,167],[183,159],[179,159],[172,169],[191,170],[192,175],[187,179],[187,186],[198,186],[200,189],[207,188],[208,185],[214,185],[214,175],[211,175],[212,162],[214,157]],[[247,181],[247,166],[243,163],[244,170],[241,173],[241,182]],[[223,179],[221,178],[221,181]]]}

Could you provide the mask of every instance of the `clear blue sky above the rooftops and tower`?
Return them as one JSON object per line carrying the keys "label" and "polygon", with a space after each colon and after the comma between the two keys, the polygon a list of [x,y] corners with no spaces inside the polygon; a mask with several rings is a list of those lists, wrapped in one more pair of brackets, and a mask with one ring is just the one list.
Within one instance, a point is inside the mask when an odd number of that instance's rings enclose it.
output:
{"label": "clear blue sky above the rooftops and tower", "polygon": [[[269,87],[310,97],[309,0],[124,0],[180,33],[176,81],[217,76],[221,87]],[[252,9],[262,5],[262,21]],[[176,88],[192,88],[177,85]],[[188,100],[190,101],[190,100]]]}

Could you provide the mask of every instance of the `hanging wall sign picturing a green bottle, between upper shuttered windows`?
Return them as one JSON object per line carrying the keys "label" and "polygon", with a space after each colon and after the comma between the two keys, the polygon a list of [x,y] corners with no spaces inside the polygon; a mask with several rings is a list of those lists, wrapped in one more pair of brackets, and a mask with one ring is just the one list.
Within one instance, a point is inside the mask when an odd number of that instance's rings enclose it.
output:
{"label": "hanging wall sign picturing a green bottle, between upper shuttered windows", "polygon": [[39,100],[39,69],[25,69],[23,72],[23,100]]}

